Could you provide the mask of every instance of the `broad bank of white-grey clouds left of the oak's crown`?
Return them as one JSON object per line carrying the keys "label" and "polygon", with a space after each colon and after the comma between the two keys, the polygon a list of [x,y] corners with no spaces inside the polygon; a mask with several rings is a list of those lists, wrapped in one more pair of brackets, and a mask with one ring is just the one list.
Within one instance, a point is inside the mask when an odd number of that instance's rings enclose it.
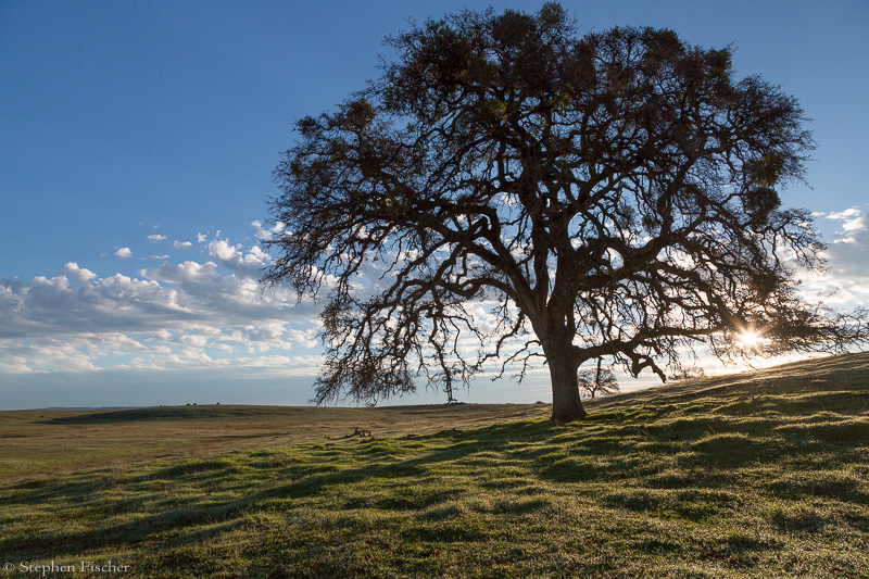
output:
{"label": "broad bank of white-grey clouds left of the oak's crown", "polygon": [[0,374],[239,367],[253,364],[245,352],[292,358],[318,345],[317,310],[257,282],[259,246],[216,238],[200,249],[210,259],[135,275],[70,262],[54,276],[0,280]]}

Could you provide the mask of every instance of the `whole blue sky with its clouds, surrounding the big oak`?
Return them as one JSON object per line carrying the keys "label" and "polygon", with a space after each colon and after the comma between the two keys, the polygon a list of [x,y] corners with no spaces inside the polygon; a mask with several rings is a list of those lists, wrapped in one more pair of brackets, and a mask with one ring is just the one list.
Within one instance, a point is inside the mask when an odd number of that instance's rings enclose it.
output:
{"label": "whole blue sky with its clouds, surrounding the big oak", "polygon": [[[489,4],[0,0],[0,410],[305,404],[316,304],[257,285],[293,123],[363,88],[408,22]],[[869,2],[564,5],[580,33],[730,45],[738,75],[795,96],[817,149],[782,199],[815,212],[829,244],[806,291],[869,304]],[[538,367],[457,398],[550,401],[547,382]]]}

